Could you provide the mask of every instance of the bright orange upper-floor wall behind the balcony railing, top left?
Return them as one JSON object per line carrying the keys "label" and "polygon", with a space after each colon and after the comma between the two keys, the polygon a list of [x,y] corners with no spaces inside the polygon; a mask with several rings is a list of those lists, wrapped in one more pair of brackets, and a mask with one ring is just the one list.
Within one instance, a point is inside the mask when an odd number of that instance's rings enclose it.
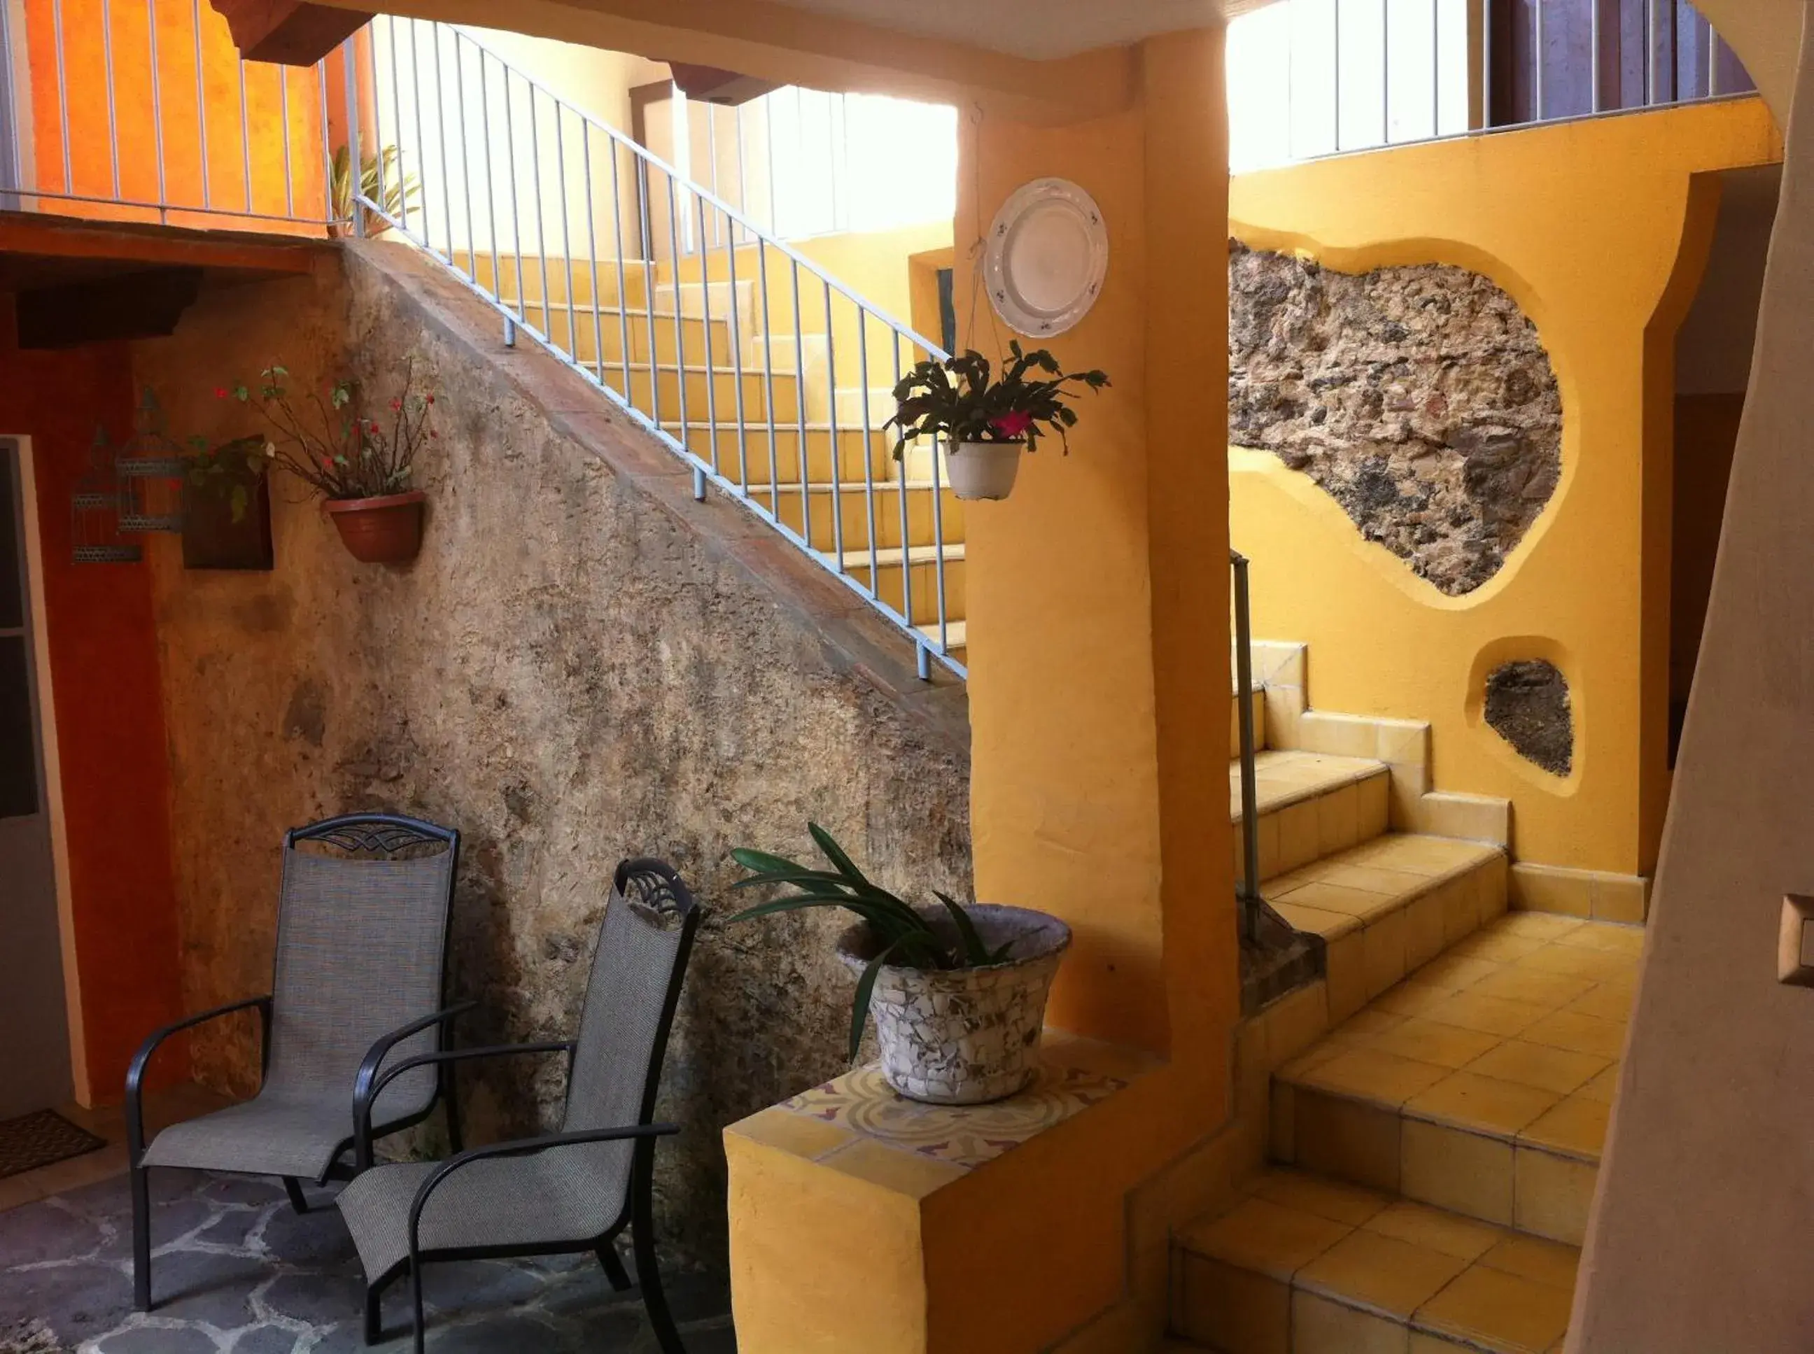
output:
{"label": "bright orange upper-floor wall behind the balcony railing, top left", "polygon": [[[227,33],[227,20],[207,4],[196,11],[180,0],[111,0],[107,5],[111,18],[103,25],[102,0],[60,0],[63,58],[60,78],[54,4],[56,0],[24,0],[34,161],[25,174],[29,185],[107,203],[167,201],[194,208],[212,205],[214,212],[325,219],[323,87],[314,69],[247,65],[241,120],[239,54]],[[158,47],[156,102],[151,63],[152,15]],[[109,42],[112,123],[118,129],[118,190],[114,141],[109,136]],[[337,60],[332,63],[337,65]],[[339,82],[330,82],[328,109],[336,131],[341,118],[332,114],[334,98],[339,98],[343,107],[343,91]],[[207,194],[203,194],[203,145]],[[44,207],[58,210],[53,201],[45,201]],[[80,214],[158,219],[156,212],[147,208],[96,203],[85,203]],[[174,212],[171,221],[223,225],[219,218],[209,221],[194,212]],[[294,228],[249,216],[236,216],[230,225],[254,230]]]}

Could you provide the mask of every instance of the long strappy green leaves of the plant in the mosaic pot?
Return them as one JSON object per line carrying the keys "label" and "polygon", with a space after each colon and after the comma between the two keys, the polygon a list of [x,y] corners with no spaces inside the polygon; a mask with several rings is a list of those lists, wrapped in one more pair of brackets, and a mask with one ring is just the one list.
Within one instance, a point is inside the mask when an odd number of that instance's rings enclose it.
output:
{"label": "long strappy green leaves of the plant in the mosaic pot", "polygon": [[931,917],[920,908],[905,903],[898,895],[869,881],[856,868],[845,850],[818,823],[807,823],[807,832],[818,845],[820,854],[831,863],[829,870],[814,870],[798,865],[784,856],[771,856],[762,850],[738,846],[731,859],[749,870],[747,879],[738,879],[733,888],[789,886],[795,892],[769,903],[744,908],[729,921],[753,921],[771,917],[778,912],[800,912],[804,908],[844,908],[854,912],[869,924],[876,939],[876,953],[856,981],[856,1004],[851,1011],[851,1057],[856,1057],[863,1042],[863,1022],[869,1019],[869,997],[876,988],[876,977],[883,964],[903,968],[981,968],[1007,961],[1012,941],[990,950],[976,930],[970,914],[954,897],[932,895],[945,904],[951,915],[954,937],[940,933]]}

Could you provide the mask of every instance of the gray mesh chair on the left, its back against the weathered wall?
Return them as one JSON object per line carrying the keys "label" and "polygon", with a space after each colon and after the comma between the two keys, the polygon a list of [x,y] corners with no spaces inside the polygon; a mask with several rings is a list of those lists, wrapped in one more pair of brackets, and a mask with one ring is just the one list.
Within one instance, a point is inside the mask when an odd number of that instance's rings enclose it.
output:
{"label": "gray mesh chair on the left, its back against the weathered wall", "polygon": [[[354,1095],[379,1068],[443,1046],[448,915],[459,832],[390,814],[348,814],[283,837],[278,953],[270,993],[165,1026],[134,1055],[125,1082],[132,1184],[132,1298],[151,1310],[151,1189],[154,1165],[283,1176],[307,1213],[301,1180],[352,1175]],[[172,1124],[147,1147],[140,1102],[145,1068],[178,1030],[258,1008],[263,1078],[250,1100]],[[423,1068],[392,1080],[366,1106],[379,1133],[423,1120],[443,1095],[459,1149],[454,1088]],[[365,1162],[368,1164],[370,1155]]]}

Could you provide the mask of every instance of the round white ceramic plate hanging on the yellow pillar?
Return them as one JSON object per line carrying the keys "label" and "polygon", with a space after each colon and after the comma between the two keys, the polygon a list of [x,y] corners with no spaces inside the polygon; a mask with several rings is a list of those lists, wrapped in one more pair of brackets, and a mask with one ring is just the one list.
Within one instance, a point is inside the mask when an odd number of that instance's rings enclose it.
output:
{"label": "round white ceramic plate hanging on the yellow pillar", "polygon": [[1107,272],[1103,214],[1070,179],[1023,183],[989,227],[989,301],[1021,334],[1068,330],[1096,305]]}

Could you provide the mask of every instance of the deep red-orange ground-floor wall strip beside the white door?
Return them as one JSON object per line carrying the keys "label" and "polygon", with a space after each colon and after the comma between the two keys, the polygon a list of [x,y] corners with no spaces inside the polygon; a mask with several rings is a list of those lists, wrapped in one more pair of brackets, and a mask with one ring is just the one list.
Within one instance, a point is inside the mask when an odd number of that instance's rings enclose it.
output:
{"label": "deep red-orange ground-floor wall strip beside the white door", "polygon": [[[125,344],[9,346],[0,337],[0,433],[31,439],[38,488],[85,1098],[111,1104],[132,1051],[181,1011],[151,573],[71,562],[69,495],[98,422],[114,444],[131,435],[132,368]],[[160,1053],[154,1071],[160,1084],[185,1077],[185,1051]]]}

